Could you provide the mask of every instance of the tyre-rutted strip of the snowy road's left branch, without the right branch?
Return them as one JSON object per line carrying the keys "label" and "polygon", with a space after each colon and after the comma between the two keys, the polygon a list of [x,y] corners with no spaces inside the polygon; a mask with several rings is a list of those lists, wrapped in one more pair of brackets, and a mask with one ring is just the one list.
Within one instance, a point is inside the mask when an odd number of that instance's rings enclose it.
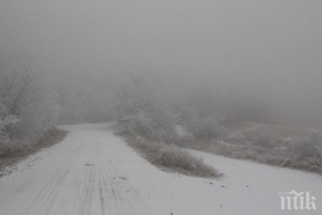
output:
{"label": "tyre-rutted strip of the snowy road's left branch, without the right branch", "polygon": [[152,215],[122,175],[121,145],[106,140],[110,131],[83,129],[30,170],[9,176],[14,183],[7,196],[0,193],[0,215]]}

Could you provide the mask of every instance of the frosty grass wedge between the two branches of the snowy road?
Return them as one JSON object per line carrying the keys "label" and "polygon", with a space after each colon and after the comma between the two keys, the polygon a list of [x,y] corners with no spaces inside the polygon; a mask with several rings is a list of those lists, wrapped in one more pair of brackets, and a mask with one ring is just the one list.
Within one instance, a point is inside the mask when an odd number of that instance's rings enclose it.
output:
{"label": "frosty grass wedge between the two branches of the snowy road", "polygon": [[148,140],[125,133],[118,133],[143,158],[162,170],[189,176],[218,178],[222,176],[215,168],[204,163],[202,157],[193,156],[185,149],[163,141]]}

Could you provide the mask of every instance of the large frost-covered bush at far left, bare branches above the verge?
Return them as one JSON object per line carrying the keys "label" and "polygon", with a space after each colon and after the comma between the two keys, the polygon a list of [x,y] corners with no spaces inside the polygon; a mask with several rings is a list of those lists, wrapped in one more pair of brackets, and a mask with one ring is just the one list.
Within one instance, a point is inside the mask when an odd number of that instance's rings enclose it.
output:
{"label": "large frost-covered bush at far left, bare branches above the verge", "polygon": [[[46,78],[29,64],[1,65],[0,109],[2,124],[6,124],[1,130],[11,140],[26,145],[35,144],[56,124],[60,110],[56,103],[56,92]],[[19,123],[17,118],[20,119]]]}

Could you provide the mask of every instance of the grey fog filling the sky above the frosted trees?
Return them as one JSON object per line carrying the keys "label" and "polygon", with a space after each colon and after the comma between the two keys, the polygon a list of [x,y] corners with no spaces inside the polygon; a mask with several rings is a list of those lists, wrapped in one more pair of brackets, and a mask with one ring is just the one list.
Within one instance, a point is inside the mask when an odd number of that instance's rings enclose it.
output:
{"label": "grey fog filling the sky above the frosted trees", "polygon": [[321,26],[320,0],[1,0],[0,57],[32,62],[60,89],[144,71],[177,98],[258,100],[266,122],[315,126]]}

